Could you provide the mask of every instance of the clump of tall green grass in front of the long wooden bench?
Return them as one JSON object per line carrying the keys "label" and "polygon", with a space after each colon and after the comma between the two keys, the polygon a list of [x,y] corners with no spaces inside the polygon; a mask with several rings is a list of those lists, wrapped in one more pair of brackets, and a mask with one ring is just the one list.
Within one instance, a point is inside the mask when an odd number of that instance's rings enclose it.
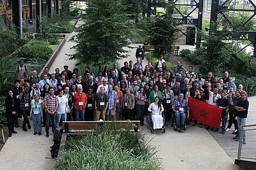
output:
{"label": "clump of tall green grass in front of the long wooden bench", "polygon": [[117,126],[69,137],[54,169],[162,169],[155,148],[144,146],[143,137]]}

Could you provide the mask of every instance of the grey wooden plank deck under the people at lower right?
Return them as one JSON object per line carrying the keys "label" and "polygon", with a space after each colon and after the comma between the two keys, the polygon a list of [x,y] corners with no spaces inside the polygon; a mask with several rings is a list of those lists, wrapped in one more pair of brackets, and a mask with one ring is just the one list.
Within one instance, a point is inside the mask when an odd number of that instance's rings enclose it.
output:
{"label": "grey wooden plank deck under the people at lower right", "polygon": [[[256,106],[251,104],[249,105],[249,113],[246,125],[256,124]],[[227,127],[228,125],[226,125]],[[249,130],[255,129],[255,130]],[[243,158],[254,158],[256,159],[256,126],[246,128],[246,145],[242,145],[242,154]],[[221,128],[218,132],[213,132],[212,130],[208,130],[214,139],[218,142],[218,144],[223,148],[223,150],[232,158],[237,158],[238,153],[238,141],[235,141],[233,137],[234,124],[232,125],[232,129],[226,131],[226,134],[222,134]]]}

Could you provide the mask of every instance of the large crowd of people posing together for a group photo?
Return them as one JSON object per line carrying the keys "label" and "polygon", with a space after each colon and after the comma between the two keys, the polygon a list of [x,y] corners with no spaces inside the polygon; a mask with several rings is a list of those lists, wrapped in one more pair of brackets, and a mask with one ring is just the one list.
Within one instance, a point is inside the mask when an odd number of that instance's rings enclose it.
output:
{"label": "large crowd of people posing together for a group photo", "polygon": [[[88,66],[81,73],[78,69],[68,70],[65,65],[61,73],[56,68],[52,74],[46,67],[41,77],[36,70],[30,76],[29,68],[21,59],[16,67],[15,85],[6,97],[9,137],[16,133],[14,127],[19,127],[18,117],[22,116],[24,131],[31,129],[28,120],[31,116],[34,135],[41,135],[42,126],[46,126],[46,137],[49,137],[49,127],[52,126],[54,131],[61,120],[139,120],[143,126],[148,111],[152,113],[154,129],[163,126],[161,115],[164,114],[164,126],[171,125],[175,116],[178,130],[184,130],[185,115],[189,117],[188,98],[193,97],[221,107],[222,133],[230,130],[234,123],[234,139],[239,139],[241,128],[238,126],[246,124],[249,102],[242,84],[237,87],[228,71],[222,78],[211,72],[203,78],[202,74],[193,71],[192,66],[187,70],[180,61],[170,70],[163,56],[154,62],[155,67],[150,62],[143,66],[142,53],[140,46],[136,53],[137,62],[124,62],[120,70],[117,63],[97,74]],[[193,126],[196,125],[194,120]],[[200,123],[199,127],[202,125]],[[216,128],[212,130],[218,131]],[[245,133],[242,138],[246,143]]]}

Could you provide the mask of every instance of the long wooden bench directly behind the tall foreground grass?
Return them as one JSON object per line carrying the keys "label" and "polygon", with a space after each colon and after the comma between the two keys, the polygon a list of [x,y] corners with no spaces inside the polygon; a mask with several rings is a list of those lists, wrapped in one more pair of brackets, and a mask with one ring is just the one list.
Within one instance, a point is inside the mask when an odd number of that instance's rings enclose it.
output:
{"label": "long wooden bench directly behind the tall foreground grass", "polygon": [[140,121],[64,121],[63,132],[85,132],[93,131],[97,127],[104,125],[115,125],[117,129],[126,129],[127,126],[133,125],[134,129],[131,131],[139,131]]}

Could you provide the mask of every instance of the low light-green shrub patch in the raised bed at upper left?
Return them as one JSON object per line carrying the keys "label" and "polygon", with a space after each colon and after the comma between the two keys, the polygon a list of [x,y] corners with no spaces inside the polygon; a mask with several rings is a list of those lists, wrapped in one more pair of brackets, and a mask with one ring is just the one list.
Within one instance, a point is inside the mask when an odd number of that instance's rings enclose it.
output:
{"label": "low light-green shrub patch in the raised bed at upper left", "polygon": [[41,58],[41,59],[49,59],[53,53],[53,49],[49,47],[49,45],[44,43],[30,43],[26,46],[23,46],[22,49],[17,53],[19,57],[23,58]]}

